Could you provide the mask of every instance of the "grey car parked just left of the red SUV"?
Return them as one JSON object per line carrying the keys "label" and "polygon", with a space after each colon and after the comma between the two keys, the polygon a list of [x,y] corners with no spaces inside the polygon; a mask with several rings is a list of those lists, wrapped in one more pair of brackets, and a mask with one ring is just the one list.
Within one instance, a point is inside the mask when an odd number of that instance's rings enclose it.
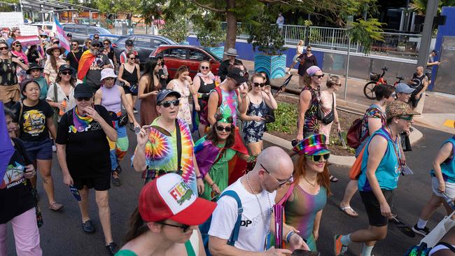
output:
{"label": "grey car parked just left of the red SUV", "polygon": [[125,41],[128,39],[134,42],[134,50],[137,51],[139,55],[139,62],[144,64],[151,52],[153,52],[160,45],[178,45],[178,43],[172,41],[171,39],[165,36],[154,36],[154,35],[141,35],[141,34],[130,34],[122,36],[113,43],[112,47],[114,52],[116,52],[117,60],[120,63],[120,53],[122,53],[125,47]]}

